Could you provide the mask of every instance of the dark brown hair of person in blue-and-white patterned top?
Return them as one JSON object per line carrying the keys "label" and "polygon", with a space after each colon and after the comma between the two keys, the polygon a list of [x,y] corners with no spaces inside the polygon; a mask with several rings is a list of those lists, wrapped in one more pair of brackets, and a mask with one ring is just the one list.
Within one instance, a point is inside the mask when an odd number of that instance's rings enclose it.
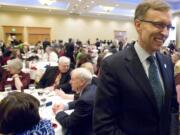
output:
{"label": "dark brown hair of person in blue-and-white patterned top", "polygon": [[39,101],[32,95],[13,92],[0,102],[0,133],[19,133],[40,121]]}

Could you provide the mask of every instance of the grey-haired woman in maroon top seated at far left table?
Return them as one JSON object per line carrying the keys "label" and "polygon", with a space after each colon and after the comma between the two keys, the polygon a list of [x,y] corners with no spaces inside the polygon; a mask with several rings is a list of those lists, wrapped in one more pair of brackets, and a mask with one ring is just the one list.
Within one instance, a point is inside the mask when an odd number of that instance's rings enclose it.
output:
{"label": "grey-haired woman in maroon top seated at far left table", "polygon": [[12,90],[28,88],[30,76],[21,71],[23,65],[20,59],[12,59],[7,62],[7,71],[3,72],[0,81],[0,91],[4,91],[8,85]]}

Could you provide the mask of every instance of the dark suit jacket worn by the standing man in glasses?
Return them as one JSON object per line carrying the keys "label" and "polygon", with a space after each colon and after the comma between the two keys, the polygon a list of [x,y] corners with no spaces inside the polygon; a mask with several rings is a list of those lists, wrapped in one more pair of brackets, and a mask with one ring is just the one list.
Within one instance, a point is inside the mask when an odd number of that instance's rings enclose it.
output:
{"label": "dark suit jacket worn by the standing man in glasses", "polygon": [[178,112],[173,66],[160,53],[157,61],[165,88],[161,113],[134,46],[104,60],[94,109],[96,135],[170,135],[171,113]]}

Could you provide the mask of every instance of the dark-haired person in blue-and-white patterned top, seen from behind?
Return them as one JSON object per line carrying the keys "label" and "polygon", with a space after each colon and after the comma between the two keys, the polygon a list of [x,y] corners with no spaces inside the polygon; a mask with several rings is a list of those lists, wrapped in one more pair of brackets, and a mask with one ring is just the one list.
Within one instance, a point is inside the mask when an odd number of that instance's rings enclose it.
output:
{"label": "dark-haired person in blue-and-white patterned top, seen from behind", "polygon": [[39,105],[29,94],[10,93],[0,102],[0,134],[54,135],[51,122],[40,119]]}

